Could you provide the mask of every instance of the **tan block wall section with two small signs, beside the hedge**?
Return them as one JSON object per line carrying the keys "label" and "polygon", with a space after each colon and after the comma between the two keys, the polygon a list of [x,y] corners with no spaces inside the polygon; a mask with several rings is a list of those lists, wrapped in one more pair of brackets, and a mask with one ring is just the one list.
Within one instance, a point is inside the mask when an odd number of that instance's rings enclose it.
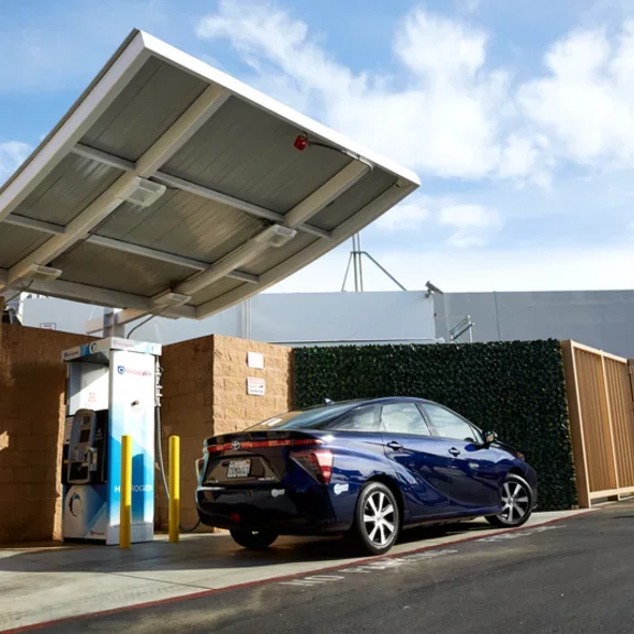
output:
{"label": "tan block wall section with two small signs, beside the hedge", "polygon": [[[249,352],[264,356],[264,369],[249,368]],[[197,521],[194,463],[203,442],[286,412],[293,404],[293,352],[289,348],[211,336],[173,343],[163,349],[163,455],[167,466],[171,435],[181,437],[181,523]],[[247,394],[248,378],[265,381],[265,395]],[[156,487],[158,528],[167,526],[163,487]]]}

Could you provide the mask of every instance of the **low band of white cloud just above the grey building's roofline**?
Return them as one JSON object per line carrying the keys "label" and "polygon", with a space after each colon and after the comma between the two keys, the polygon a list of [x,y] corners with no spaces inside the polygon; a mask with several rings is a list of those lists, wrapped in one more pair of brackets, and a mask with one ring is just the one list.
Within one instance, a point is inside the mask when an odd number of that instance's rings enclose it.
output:
{"label": "low band of white cloud just above the grey building's roofline", "polygon": [[[634,287],[630,245],[514,249],[424,249],[418,252],[364,248],[407,289],[434,280],[446,293],[490,291],[592,291]],[[275,293],[337,292],[348,261],[347,245],[277,284]],[[363,269],[367,291],[396,291],[378,269]]]}

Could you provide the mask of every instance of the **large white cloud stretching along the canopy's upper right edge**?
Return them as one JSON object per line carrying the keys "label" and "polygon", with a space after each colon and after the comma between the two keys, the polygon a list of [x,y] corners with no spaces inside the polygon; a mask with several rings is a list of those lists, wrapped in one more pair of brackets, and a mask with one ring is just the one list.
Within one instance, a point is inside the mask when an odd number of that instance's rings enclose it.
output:
{"label": "large white cloud stretching along the canopy's upper right edge", "polygon": [[485,67],[487,34],[469,24],[420,7],[407,13],[393,43],[405,81],[353,73],[274,2],[221,0],[197,35],[229,41],[265,91],[420,172],[482,178],[536,168],[533,145],[506,132],[509,77]]}

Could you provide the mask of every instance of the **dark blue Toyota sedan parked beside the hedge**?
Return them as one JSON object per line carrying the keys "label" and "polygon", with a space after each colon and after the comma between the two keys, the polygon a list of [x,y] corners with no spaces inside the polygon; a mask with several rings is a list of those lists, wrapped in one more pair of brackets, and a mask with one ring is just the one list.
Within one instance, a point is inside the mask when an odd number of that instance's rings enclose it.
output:
{"label": "dark blue Toyota sedan parked beside the hedge", "polygon": [[205,441],[200,522],[245,548],[278,535],[347,535],[381,555],[402,528],[484,516],[521,526],[537,502],[524,457],[420,398],[334,403]]}

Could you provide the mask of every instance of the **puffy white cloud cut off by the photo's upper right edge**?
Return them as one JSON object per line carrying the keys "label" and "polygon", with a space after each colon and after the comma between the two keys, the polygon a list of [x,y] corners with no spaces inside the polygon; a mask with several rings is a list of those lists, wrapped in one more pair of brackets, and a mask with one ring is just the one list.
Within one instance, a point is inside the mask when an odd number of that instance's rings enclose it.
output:
{"label": "puffy white cloud cut off by the photo's upper right edge", "polygon": [[634,166],[634,20],[611,41],[604,29],[577,31],[547,52],[548,74],[517,100],[560,158],[606,168]]}

